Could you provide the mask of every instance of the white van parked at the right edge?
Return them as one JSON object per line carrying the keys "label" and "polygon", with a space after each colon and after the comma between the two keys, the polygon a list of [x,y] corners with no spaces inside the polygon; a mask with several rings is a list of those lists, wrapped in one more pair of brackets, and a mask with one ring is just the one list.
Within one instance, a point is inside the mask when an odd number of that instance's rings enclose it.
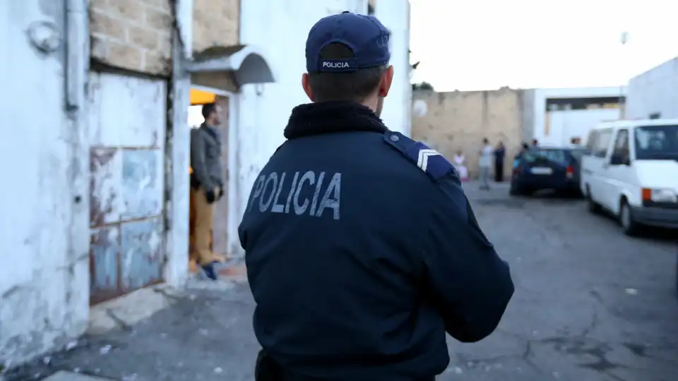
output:
{"label": "white van parked at the right edge", "polygon": [[580,186],[590,212],[619,217],[625,234],[678,229],[678,119],[600,123],[588,135]]}

